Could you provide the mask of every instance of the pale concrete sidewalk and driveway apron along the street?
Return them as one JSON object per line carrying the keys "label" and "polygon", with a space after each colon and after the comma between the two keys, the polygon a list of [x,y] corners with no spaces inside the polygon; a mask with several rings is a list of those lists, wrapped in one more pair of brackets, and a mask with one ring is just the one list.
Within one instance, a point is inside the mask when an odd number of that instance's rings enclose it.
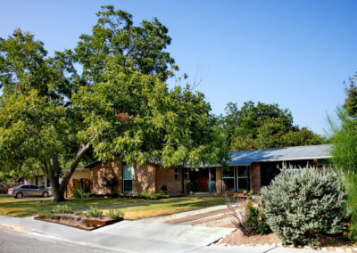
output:
{"label": "pale concrete sidewalk and driveway apron along the street", "polygon": [[[97,249],[126,252],[321,252],[309,249],[272,247],[209,246],[232,231],[230,228],[203,227],[182,224],[162,224],[148,221],[122,221],[94,231],[84,231],[62,224],[0,216],[0,229],[11,229],[43,240],[54,239]],[[331,252],[331,251],[329,251]]]}

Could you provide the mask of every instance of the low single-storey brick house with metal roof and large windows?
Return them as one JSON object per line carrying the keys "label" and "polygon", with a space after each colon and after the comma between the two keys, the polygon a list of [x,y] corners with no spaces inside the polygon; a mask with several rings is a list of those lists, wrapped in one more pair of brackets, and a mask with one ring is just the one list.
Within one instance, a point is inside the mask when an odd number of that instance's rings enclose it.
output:
{"label": "low single-storey brick house with metal roof and large windows", "polygon": [[129,166],[117,161],[94,162],[74,172],[67,196],[75,187],[88,184],[96,194],[162,191],[170,195],[187,194],[187,183],[194,192],[221,194],[228,192],[259,191],[278,175],[278,167],[319,165],[331,158],[331,145],[286,147],[259,151],[237,151],[229,154],[228,167],[170,167],[160,164]]}

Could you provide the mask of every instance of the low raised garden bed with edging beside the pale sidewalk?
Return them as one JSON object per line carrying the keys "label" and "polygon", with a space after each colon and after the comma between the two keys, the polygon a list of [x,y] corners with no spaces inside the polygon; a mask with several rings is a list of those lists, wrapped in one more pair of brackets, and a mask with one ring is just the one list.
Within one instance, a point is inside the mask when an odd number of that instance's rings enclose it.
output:
{"label": "low raised garden bed with edging beside the pale sidewalk", "polygon": [[48,216],[36,216],[34,217],[34,219],[55,224],[64,224],[71,227],[90,231],[96,228],[104,227],[105,225],[115,224],[117,222],[122,221],[124,218],[119,217],[111,219],[108,216],[102,216],[102,218],[94,218],[87,216],[76,216],[72,214],[51,214],[51,218]]}

